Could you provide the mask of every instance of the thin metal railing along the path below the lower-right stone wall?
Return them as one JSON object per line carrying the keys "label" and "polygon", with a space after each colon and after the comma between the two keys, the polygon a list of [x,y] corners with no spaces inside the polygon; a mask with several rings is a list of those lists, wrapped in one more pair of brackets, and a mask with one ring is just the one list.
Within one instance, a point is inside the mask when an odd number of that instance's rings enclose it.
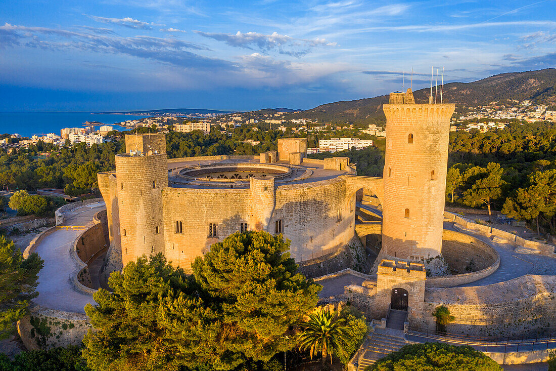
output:
{"label": "thin metal railing along the path below the lower-right stone wall", "polygon": [[481,352],[514,353],[530,352],[532,350],[556,349],[556,331],[551,335],[541,335],[535,338],[503,338],[491,340],[481,336],[468,336],[451,333],[438,333],[416,326],[408,326],[405,333],[406,340],[416,343],[446,343],[451,345],[470,345]]}

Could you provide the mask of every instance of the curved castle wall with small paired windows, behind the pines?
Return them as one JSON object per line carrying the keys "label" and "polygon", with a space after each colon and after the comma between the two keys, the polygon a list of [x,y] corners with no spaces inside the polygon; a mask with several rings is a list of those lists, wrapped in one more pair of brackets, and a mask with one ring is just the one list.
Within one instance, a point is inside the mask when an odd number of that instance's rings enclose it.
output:
{"label": "curved castle wall with small paired windows, behind the pines", "polygon": [[[249,189],[164,189],[167,260],[190,269],[195,257],[240,231],[242,223],[247,223],[248,230],[276,233],[279,222],[296,262],[337,253],[354,237],[355,213],[345,201],[344,180],[279,187],[272,179],[251,179],[250,183]],[[181,222],[182,232],[176,231],[176,222],[178,226]],[[211,224],[216,224],[216,236],[210,236]]]}

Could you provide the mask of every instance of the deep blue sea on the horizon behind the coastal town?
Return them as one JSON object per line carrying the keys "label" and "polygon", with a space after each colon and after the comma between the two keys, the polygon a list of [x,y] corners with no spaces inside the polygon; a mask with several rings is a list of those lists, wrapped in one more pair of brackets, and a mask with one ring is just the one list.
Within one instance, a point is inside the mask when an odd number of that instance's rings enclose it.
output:
{"label": "deep blue sea on the horizon behind the coastal town", "polygon": [[95,129],[112,125],[114,130],[130,130],[115,123],[141,119],[148,116],[122,114],[93,114],[92,112],[0,112],[0,134],[21,136],[54,133],[60,135],[63,128],[83,128],[85,121],[98,121]]}

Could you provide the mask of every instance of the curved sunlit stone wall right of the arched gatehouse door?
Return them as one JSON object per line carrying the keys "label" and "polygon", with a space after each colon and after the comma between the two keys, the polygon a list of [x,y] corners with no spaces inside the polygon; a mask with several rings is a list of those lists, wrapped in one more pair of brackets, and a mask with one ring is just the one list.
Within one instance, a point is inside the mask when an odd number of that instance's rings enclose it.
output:
{"label": "curved sunlit stone wall right of the arched gatehouse door", "polygon": [[534,337],[556,330],[556,276],[525,275],[499,284],[425,290],[423,316],[411,325],[434,330],[431,315],[445,305],[448,332],[486,338]]}

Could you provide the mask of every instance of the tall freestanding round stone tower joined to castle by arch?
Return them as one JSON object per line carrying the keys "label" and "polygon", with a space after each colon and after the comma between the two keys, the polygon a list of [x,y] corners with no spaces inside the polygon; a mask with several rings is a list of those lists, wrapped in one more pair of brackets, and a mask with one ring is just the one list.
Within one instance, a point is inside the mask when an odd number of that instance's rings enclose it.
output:
{"label": "tall freestanding round stone tower joined to castle by arch", "polygon": [[[403,93],[402,93],[403,94]],[[393,95],[393,96],[392,96]],[[415,104],[410,89],[385,104],[383,240],[379,257],[449,271],[441,256],[450,118],[454,104]]]}

